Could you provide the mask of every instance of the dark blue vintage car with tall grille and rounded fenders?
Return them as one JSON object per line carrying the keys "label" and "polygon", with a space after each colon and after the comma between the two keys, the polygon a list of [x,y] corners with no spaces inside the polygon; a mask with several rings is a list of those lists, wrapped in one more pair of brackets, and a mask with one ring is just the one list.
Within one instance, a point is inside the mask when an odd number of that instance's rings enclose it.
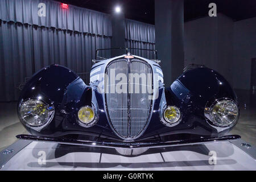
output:
{"label": "dark blue vintage car with tall grille and rounded fenders", "polygon": [[238,139],[237,96],[209,68],[163,84],[158,60],[127,53],[94,61],[90,84],[60,65],[27,82],[18,102],[31,135],[19,139],[101,147],[158,147]]}

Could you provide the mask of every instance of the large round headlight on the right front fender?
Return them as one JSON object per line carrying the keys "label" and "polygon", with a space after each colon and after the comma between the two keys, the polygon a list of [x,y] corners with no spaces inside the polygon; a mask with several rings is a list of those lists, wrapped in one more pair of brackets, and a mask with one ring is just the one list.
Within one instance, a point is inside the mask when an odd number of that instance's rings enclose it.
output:
{"label": "large round headlight on the right front fender", "polygon": [[231,100],[221,100],[210,109],[212,122],[221,127],[232,125],[238,119],[238,107]]}

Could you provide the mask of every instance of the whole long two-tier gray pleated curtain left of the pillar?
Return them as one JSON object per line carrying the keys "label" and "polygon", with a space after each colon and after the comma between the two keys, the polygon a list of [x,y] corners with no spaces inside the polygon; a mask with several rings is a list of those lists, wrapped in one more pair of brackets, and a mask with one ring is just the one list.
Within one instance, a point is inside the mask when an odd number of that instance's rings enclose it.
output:
{"label": "whole long two-tier gray pleated curtain left of the pillar", "polygon": [[[46,17],[38,16],[40,2]],[[50,64],[89,72],[95,49],[110,48],[111,36],[107,14],[65,10],[54,1],[0,0],[0,101],[18,100],[25,78]]]}

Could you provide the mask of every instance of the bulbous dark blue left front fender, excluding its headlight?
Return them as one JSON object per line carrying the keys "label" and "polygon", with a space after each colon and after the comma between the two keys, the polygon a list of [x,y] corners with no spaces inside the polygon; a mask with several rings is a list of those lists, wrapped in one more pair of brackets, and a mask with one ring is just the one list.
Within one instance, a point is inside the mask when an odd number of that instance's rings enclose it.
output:
{"label": "bulbous dark blue left front fender, excluding its headlight", "polygon": [[92,105],[92,89],[70,69],[54,64],[35,73],[24,86],[18,101],[18,115],[20,105],[29,98],[53,105],[55,115],[43,127],[30,127],[22,119],[20,121],[32,134],[51,135],[62,133],[69,125],[71,129],[79,127],[77,111],[81,106]]}

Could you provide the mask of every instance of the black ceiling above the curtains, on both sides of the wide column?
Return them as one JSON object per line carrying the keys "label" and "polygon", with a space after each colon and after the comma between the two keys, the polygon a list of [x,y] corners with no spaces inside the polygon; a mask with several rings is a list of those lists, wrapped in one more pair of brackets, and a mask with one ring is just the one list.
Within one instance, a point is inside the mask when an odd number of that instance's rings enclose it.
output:
{"label": "black ceiling above the curtains, on both sides of the wide column", "polygon": [[[119,5],[125,17],[145,23],[155,23],[155,0],[57,0],[111,14]],[[208,15],[208,5],[214,2],[217,12],[233,20],[253,18],[256,16],[256,0],[184,0],[184,21]]]}

